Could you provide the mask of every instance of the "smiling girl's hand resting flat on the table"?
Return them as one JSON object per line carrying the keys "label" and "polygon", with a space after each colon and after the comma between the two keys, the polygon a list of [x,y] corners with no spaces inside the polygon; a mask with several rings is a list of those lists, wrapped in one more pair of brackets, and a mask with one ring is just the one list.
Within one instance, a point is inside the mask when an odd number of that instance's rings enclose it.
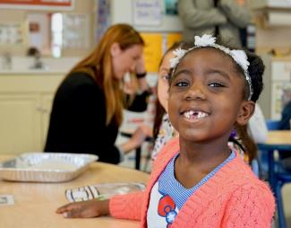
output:
{"label": "smiling girl's hand resting flat on the table", "polygon": [[70,203],[56,209],[65,218],[91,218],[109,214],[109,200],[89,200]]}

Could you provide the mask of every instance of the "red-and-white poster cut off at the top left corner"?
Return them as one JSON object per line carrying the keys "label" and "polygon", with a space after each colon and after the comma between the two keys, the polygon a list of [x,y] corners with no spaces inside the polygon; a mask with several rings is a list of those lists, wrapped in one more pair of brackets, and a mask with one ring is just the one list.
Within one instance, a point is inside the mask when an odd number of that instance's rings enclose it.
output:
{"label": "red-and-white poster cut off at the top left corner", "polygon": [[72,10],[74,0],[0,0],[0,9]]}

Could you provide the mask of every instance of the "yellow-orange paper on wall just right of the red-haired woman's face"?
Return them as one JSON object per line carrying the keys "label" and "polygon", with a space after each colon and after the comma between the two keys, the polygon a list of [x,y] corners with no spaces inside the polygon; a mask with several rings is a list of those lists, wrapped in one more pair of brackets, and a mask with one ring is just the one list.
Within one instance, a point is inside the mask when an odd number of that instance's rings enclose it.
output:
{"label": "yellow-orange paper on wall just right of the red-haired woman's face", "polygon": [[148,72],[158,72],[158,64],[163,55],[163,36],[161,33],[141,33],[141,37],[145,41],[143,55],[146,69]]}

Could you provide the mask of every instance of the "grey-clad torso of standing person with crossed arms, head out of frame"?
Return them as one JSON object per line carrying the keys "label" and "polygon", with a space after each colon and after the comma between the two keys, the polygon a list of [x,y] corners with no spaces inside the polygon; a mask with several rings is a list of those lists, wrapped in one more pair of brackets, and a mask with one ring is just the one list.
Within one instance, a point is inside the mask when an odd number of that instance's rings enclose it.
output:
{"label": "grey-clad torso of standing person with crossed arms, head out of frame", "polygon": [[240,29],[251,22],[251,12],[238,0],[179,0],[178,13],[184,25],[183,39],[211,33],[232,46],[241,46]]}

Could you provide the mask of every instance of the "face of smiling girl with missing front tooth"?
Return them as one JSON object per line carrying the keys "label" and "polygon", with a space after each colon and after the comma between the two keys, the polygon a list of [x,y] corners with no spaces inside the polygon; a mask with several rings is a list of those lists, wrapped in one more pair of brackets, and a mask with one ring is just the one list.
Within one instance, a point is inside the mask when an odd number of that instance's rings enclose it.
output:
{"label": "face of smiling girl with missing front tooth", "polygon": [[253,102],[243,97],[244,77],[231,57],[213,48],[194,49],[175,70],[169,118],[185,140],[227,140],[235,123],[245,125],[252,116]]}

